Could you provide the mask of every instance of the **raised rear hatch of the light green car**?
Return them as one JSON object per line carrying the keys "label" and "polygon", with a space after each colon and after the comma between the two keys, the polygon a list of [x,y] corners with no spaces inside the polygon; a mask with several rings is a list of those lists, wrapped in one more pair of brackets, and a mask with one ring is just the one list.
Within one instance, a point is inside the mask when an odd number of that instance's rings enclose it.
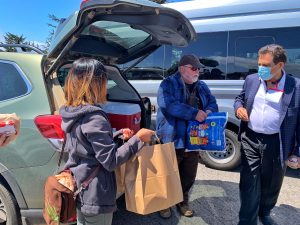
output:
{"label": "raised rear hatch of the light green car", "polygon": [[195,38],[189,20],[174,9],[150,1],[87,0],[57,27],[44,72],[82,56],[122,64],[162,44],[186,46]]}

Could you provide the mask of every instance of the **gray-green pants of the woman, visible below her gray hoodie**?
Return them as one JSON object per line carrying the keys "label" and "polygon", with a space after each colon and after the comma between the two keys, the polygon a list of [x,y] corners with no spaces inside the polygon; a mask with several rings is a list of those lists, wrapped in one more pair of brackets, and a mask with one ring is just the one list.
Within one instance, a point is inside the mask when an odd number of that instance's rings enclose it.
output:
{"label": "gray-green pants of the woman, visible below her gray hoodie", "polygon": [[77,209],[77,225],[111,225],[113,213],[86,216]]}

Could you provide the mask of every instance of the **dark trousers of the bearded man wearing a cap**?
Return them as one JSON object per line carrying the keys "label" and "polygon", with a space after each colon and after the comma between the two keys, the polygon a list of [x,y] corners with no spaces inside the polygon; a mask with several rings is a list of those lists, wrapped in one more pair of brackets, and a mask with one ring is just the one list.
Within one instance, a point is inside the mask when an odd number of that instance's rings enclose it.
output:
{"label": "dark trousers of the bearded man wearing a cap", "polygon": [[176,149],[176,156],[183,192],[183,202],[188,203],[189,191],[197,175],[199,152],[185,152],[185,149]]}

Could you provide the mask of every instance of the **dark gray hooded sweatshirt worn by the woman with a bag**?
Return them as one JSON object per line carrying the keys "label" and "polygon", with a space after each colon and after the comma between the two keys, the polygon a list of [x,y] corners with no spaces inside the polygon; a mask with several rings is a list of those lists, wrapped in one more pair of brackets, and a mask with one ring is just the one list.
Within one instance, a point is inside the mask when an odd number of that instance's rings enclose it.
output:
{"label": "dark gray hooded sweatshirt worn by the woman with a bag", "polygon": [[85,215],[113,212],[116,209],[114,169],[136,154],[143,143],[134,135],[118,147],[100,106],[63,106],[59,112],[67,138],[65,149],[69,152],[65,168],[74,174],[77,188],[100,165],[97,176],[77,196],[77,208]]}

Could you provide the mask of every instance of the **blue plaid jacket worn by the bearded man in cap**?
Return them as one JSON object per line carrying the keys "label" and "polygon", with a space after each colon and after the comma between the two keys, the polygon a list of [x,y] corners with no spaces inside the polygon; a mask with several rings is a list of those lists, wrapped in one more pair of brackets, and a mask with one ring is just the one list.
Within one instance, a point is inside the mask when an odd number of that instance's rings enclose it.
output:
{"label": "blue plaid jacket worn by the bearded man in cap", "polygon": [[[218,111],[215,97],[203,81],[197,81],[196,90],[203,111]],[[194,120],[198,109],[187,104],[186,88],[179,72],[164,79],[157,94],[158,112],[156,132],[163,143],[175,142],[175,148],[185,148],[187,121]]]}

